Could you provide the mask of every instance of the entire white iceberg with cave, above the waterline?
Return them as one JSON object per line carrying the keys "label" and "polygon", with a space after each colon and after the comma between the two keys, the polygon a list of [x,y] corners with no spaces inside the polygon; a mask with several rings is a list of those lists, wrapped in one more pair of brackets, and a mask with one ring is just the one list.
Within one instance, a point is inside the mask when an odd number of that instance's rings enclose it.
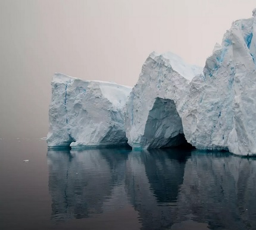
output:
{"label": "entire white iceberg with cave, above the waterline", "polygon": [[253,17],[232,23],[204,69],[170,52],[152,52],[133,89],[56,74],[48,146],[128,140],[133,149],[155,149],[188,142],[256,155],[255,36],[256,9]]}

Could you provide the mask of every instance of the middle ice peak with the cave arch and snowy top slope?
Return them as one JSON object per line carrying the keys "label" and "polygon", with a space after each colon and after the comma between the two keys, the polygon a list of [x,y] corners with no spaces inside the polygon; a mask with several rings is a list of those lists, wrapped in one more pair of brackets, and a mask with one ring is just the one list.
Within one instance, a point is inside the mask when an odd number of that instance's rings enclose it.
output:
{"label": "middle ice peak with the cave arch and snowy top slope", "polygon": [[149,55],[126,105],[124,124],[130,146],[155,149],[186,143],[179,112],[189,81],[200,73],[202,68],[173,53]]}

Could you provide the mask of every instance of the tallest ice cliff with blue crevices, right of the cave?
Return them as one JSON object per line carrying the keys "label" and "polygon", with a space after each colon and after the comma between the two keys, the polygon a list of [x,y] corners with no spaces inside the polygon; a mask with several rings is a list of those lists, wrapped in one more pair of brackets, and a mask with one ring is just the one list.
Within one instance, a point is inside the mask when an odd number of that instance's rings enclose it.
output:
{"label": "tallest ice cliff with blue crevices, right of the cave", "polygon": [[256,154],[255,36],[255,17],[235,21],[190,83],[182,124],[196,148]]}

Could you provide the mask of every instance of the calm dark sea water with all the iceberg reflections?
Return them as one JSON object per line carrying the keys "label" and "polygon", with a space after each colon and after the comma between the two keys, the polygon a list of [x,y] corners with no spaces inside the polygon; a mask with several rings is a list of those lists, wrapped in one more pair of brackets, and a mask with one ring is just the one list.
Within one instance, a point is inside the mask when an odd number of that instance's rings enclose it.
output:
{"label": "calm dark sea water with all the iceberg reflections", "polygon": [[[0,229],[256,229],[256,160],[0,140]],[[24,163],[23,160],[29,159]]]}

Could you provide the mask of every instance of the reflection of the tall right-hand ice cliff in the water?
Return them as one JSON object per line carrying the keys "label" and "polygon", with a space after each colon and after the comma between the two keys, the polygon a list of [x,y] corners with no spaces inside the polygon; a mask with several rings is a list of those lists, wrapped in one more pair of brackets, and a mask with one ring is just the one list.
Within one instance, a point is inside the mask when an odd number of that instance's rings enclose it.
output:
{"label": "reflection of the tall right-hand ice cliff in the water", "polygon": [[178,221],[186,214],[210,229],[256,229],[256,161],[195,151],[186,163]]}

